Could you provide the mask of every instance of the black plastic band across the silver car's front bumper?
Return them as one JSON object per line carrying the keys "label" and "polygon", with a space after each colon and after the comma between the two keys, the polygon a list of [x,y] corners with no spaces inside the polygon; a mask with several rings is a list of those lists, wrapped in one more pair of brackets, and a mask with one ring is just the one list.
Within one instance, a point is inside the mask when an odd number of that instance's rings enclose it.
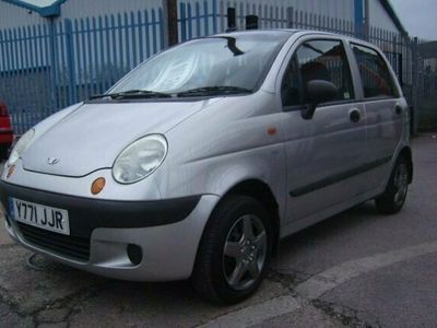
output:
{"label": "black plastic band across the silver car's front bumper", "polygon": [[176,223],[186,219],[200,200],[200,196],[151,201],[102,200],[0,181],[0,200],[8,213],[9,197],[68,210],[71,236],[84,238],[90,238],[96,227],[146,227]]}

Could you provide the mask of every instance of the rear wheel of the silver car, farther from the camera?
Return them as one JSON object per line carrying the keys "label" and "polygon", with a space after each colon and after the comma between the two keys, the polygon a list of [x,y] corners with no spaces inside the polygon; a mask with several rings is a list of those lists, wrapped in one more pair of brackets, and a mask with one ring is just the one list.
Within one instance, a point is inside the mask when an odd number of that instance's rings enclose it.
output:
{"label": "rear wheel of the silver car, farther from the camera", "polygon": [[386,191],[375,199],[376,208],[382,214],[398,213],[406,199],[410,184],[409,163],[400,156],[391,173]]}

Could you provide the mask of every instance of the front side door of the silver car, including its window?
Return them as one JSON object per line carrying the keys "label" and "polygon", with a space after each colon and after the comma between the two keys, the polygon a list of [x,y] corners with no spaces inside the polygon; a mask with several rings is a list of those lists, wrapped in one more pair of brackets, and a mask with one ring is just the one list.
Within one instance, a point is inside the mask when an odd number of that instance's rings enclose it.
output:
{"label": "front side door of the silver car, including its window", "polygon": [[[338,97],[320,104],[311,119],[305,85],[333,83]],[[345,45],[340,38],[307,38],[291,56],[282,77],[287,161],[287,221],[300,220],[353,199],[364,190],[357,174],[366,149],[366,114],[357,99]]]}

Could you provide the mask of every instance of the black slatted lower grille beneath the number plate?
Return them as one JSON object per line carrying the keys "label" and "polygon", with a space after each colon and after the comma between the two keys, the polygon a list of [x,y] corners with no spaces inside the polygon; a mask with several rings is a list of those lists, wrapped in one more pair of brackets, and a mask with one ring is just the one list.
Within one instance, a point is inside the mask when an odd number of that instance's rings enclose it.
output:
{"label": "black slatted lower grille beneath the number plate", "polygon": [[90,258],[90,239],[66,236],[17,222],[21,234],[31,245],[81,261]]}

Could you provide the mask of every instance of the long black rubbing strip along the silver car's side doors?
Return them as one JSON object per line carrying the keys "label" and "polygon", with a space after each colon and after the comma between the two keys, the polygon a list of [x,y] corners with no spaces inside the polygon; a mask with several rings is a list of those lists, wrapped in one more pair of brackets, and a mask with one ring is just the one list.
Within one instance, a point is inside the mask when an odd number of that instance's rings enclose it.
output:
{"label": "long black rubbing strip along the silver car's side doors", "polygon": [[358,174],[365,173],[367,171],[374,169],[374,168],[376,168],[378,166],[381,166],[381,165],[390,162],[392,157],[393,157],[392,155],[386,156],[386,157],[379,159],[379,160],[377,160],[375,162],[366,163],[366,164],[364,164],[362,166],[358,166],[356,168],[352,168],[350,171],[333,175],[331,177],[321,179],[321,180],[312,183],[310,185],[307,185],[307,186],[291,190],[290,191],[290,196],[299,197],[299,196],[303,196],[305,194],[309,194],[309,192],[316,191],[318,189],[328,187],[330,185],[340,183],[340,181],[345,180],[345,179],[347,179],[347,178],[350,178],[350,177],[352,177],[354,175],[358,175]]}

